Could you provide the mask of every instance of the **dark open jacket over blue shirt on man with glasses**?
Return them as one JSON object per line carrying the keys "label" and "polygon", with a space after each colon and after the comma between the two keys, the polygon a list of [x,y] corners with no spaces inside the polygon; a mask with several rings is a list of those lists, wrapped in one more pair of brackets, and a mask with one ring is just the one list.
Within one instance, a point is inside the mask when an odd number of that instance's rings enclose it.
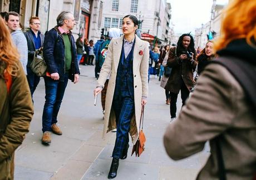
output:
{"label": "dark open jacket over blue shirt on man with glasses", "polygon": [[[27,32],[24,33],[26,39],[27,39],[27,45],[28,45],[28,63],[27,67],[30,67],[30,64],[32,63],[32,60],[34,58],[35,52],[36,52],[36,46],[35,46],[35,41],[33,34],[31,30],[28,30]],[[45,40],[45,35],[40,33],[40,39],[41,39],[41,47],[43,46],[43,42]]]}

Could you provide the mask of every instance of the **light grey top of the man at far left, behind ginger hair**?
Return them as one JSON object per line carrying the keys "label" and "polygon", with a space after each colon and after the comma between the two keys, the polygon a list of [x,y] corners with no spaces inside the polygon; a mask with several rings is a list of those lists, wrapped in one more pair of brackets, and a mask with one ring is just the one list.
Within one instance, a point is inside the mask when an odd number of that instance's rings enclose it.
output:
{"label": "light grey top of the man at far left, behind ginger hair", "polygon": [[27,62],[28,62],[27,39],[24,36],[23,32],[19,29],[12,32],[11,35],[12,35],[13,43],[16,45],[18,49],[23,70],[27,75]]}

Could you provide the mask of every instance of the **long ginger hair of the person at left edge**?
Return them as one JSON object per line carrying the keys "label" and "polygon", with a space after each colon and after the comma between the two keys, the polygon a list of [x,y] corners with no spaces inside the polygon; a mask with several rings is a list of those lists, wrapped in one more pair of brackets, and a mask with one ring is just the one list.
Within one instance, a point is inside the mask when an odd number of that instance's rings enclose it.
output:
{"label": "long ginger hair of the person at left edge", "polygon": [[[0,17],[0,65],[4,66],[4,71],[12,76],[17,75],[19,54],[12,43],[11,34],[4,24],[3,18]],[[4,75],[0,74],[3,78]]]}

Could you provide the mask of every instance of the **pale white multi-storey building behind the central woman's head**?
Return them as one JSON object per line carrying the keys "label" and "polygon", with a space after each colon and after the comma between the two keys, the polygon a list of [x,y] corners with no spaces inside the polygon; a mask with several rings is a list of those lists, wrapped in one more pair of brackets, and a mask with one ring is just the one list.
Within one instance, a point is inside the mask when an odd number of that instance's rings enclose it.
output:
{"label": "pale white multi-storey building behind the central woman's head", "polygon": [[132,14],[138,18],[142,33],[170,42],[171,4],[166,0],[105,0],[103,6],[101,28],[105,33],[112,27],[121,28],[122,18]]}

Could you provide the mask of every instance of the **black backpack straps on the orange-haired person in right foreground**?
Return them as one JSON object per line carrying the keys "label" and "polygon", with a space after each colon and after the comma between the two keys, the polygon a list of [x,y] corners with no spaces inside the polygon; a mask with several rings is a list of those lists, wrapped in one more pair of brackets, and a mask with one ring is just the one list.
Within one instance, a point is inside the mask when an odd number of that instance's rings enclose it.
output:
{"label": "black backpack straps on the orange-haired person in right foreground", "polygon": [[[252,112],[256,115],[256,66],[247,63],[243,59],[234,58],[234,57],[220,57],[217,58],[211,63],[220,64],[224,66],[229,73],[231,73],[238,83],[242,86],[249,107]],[[211,64],[210,63],[210,64]],[[223,155],[220,147],[220,138],[222,135],[219,135],[214,138],[213,141],[216,143],[216,153],[218,157],[218,175],[220,180],[226,180],[225,164],[223,161]]]}

